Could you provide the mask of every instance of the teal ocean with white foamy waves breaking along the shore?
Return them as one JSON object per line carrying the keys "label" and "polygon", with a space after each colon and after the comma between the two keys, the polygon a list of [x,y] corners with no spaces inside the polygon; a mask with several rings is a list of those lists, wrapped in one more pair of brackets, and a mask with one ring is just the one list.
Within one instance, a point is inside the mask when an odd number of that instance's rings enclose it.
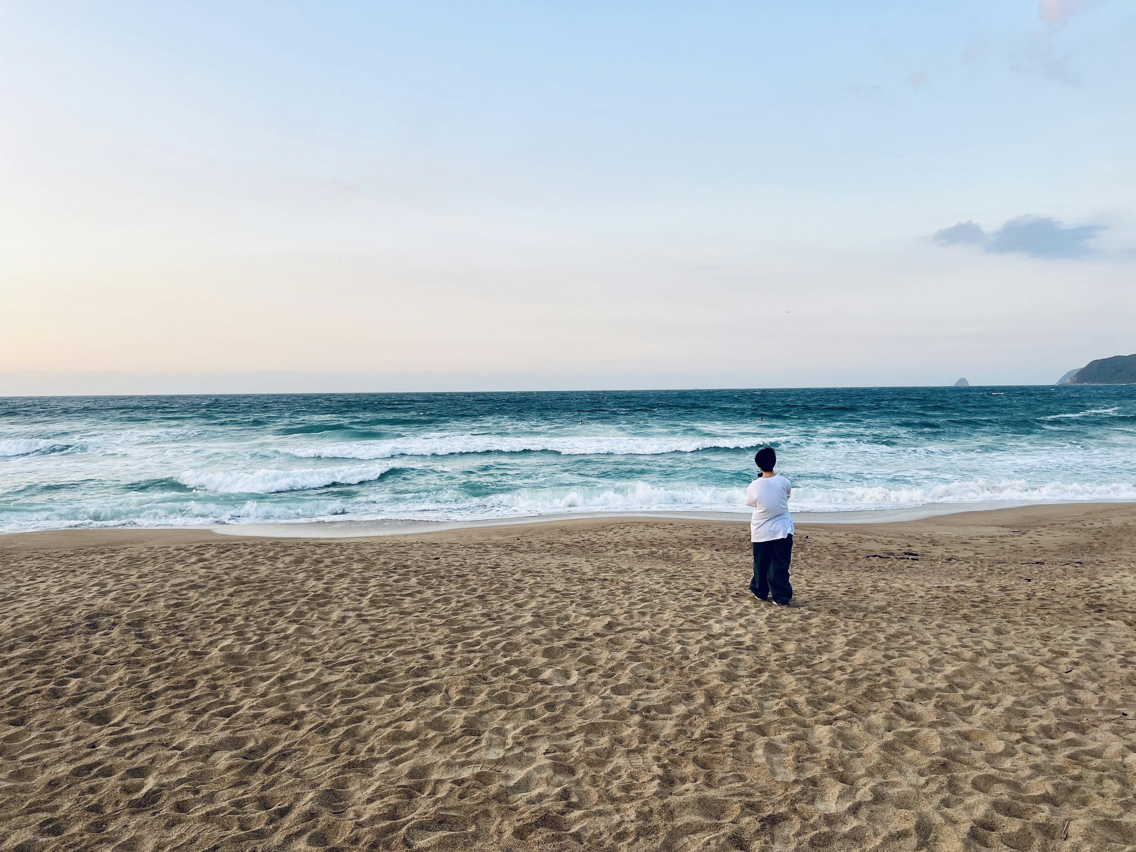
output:
{"label": "teal ocean with white foamy waves breaking along the shore", "polygon": [[0,531],[1136,500],[1136,386],[0,399]]}

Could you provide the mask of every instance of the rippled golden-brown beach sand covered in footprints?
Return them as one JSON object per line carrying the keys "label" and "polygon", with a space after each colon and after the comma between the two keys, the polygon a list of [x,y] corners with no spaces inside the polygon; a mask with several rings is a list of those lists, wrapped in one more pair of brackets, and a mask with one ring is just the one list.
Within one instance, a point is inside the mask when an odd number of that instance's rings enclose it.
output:
{"label": "rippled golden-brown beach sand covered in footprints", "polygon": [[0,849],[1136,847],[1136,507],[747,538],[0,537]]}

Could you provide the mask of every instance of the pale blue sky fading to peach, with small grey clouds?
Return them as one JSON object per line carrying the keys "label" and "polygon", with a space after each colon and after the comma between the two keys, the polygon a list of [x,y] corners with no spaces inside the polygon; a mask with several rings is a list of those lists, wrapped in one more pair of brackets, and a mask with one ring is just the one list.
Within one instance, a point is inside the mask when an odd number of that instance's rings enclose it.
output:
{"label": "pale blue sky fading to peach, with small grey clouds", "polygon": [[1136,2],[0,0],[0,394],[1044,384]]}

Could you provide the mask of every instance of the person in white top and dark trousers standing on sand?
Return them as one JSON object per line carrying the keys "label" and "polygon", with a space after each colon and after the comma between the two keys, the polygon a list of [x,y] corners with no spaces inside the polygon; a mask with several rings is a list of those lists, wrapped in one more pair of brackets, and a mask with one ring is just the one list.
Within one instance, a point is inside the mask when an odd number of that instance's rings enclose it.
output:
{"label": "person in white top and dark trousers standing on sand", "polygon": [[753,507],[750,540],[753,542],[753,579],[750,591],[761,601],[770,596],[778,607],[793,598],[788,563],[793,558],[793,518],[788,513],[788,479],[774,474],[777,453],[771,446],[753,457],[761,476],[745,490],[745,504]]}

